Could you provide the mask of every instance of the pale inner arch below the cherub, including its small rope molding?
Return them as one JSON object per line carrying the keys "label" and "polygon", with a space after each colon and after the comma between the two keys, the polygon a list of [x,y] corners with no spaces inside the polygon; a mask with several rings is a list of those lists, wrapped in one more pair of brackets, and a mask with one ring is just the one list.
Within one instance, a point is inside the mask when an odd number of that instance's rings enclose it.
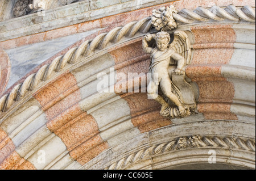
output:
{"label": "pale inner arch below the cherub, including its small rope molding", "polygon": [[[229,165],[226,169],[255,169],[254,133],[247,132],[251,126],[225,120],[172,124],[106,150],[83,169],[203,169],[203,165],[204,169],[216,169],[214,164]],[[115,157],[108,154],[113,150]],[[105,155],[110,156],[108,161],[101,159]]]}

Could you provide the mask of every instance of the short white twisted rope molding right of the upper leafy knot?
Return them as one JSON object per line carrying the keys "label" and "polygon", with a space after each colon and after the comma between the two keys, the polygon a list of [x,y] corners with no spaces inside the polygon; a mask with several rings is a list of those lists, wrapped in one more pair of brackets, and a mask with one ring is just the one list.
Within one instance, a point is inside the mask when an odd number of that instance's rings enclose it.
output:
{"label": "short white twisted rope molding right of the upper leafy knot", "polygon": [[229,5],[225,9],[214,5],[210,9],[204,7],[197,7],[195,10],[182,9],[178,13],[172,13],[174,19],[178,22],[189,24],[194,22],[207,22],[209,20],[232,20],[246,22],[255,22],[255,9],[250,6],[243,6],[237,8],[236,6]]}

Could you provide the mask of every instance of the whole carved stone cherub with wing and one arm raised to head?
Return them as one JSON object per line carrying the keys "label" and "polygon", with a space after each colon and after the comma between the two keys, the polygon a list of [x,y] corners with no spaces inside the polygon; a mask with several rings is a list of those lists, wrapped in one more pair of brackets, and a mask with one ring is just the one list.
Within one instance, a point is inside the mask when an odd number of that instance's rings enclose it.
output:
{"label": "whole carved stone cherub with wing and one arm raised to head", "polygon": [[[147,33],[142,40],[144,51],[151,54],[149,72],[152,73],[152,79],[148,83],[147,94],[148,98],[155,99],[162,105],[160,114],[164,117],[170,117],[170,110],[173,108],[162,96],[158,95],[158,86],[160,85],[164,96],[177,107],[178,115],[185,117],[190,115],[189,107],[184,105],[180,99],[180,95],[177,94],[179,90],[172,82],[171,77],[172,75],[184,76],[183,68],[190,60],[190,49],[186,46],[190,43],[187,34],[183,31],[174,32],[174,41],[171,44],[170,39],[169,33],[160,31],[156,34]],[[155,41],[156,47],[150,47],[152,41]],[[182,46],[183,48],[181,48]],[[158,73],[158,79],[154,78],[155,73]],[[176,91],[172,91],[174,89]]]}

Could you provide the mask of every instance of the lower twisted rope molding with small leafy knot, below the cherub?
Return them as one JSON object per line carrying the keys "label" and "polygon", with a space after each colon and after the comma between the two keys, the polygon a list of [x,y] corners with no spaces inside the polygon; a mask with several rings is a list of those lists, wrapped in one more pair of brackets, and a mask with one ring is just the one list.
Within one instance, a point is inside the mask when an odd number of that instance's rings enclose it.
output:
{"label": "lower twisted rope molding with small leafy knot, below the cherub", "polygon": [[142,159],[148,159],[152,156],[166,153],[168,151],[174,151],[179,149],[187,149],[187,148],[200,148],[212,146],[214,148],[235,148],[242,149],[246,151],[255,152],[255,140],[247,139],[243,140],[242,138],[232,138],[232,137],[201,137],[199,135],[194,135],[191,137],[180,137],[176,140],[172,140],[169,142],[164,142],[159,145],[150,146],[149,148],[145,148],[137,151],[136,153],[132,153],[125,158],[120,159],[119,161],[112,163],[112,165],[106,167],[104,170],[119,170],[125,169],[125,167],[141,161]]}

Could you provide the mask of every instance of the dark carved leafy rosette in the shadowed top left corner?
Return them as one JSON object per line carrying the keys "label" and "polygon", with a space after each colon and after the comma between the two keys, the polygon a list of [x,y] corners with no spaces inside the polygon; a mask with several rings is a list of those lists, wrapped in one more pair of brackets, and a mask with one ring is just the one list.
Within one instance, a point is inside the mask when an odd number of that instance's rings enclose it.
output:
{"label": "dark carved leafy rosette in the shadowed top left corner", "polygon": [[30,4],[32,0],[18,0],[16,1],[13,8],[13,15],[15,17],[24,16],[29,14],[32,10],[30,9]]}

